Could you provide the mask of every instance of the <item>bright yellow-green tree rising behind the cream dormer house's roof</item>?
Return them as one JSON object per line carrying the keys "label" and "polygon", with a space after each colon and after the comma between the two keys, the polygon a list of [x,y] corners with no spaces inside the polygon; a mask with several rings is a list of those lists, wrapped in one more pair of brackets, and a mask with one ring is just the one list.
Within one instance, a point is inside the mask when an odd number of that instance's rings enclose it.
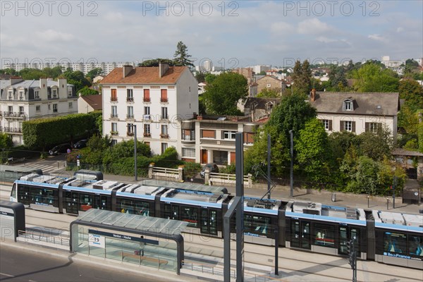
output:
{"label": "bright yellow-green tree rising behind the cream dormer house's roof", "polygon": [[353,71],[352,76],[357,92],[398,92],[399,79],[396,73],[382,68],[378,63],[364,63],[360,69]]}

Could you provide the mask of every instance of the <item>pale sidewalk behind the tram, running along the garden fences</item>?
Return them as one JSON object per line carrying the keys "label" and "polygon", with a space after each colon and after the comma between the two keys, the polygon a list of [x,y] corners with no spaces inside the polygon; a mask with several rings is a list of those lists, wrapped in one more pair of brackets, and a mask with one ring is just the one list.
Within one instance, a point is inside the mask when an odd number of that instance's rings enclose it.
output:
{"label": "pale sidewalk behind the tram, running along the garden fences", "polygon": [[[133,176],[115,176],[113,174],[104,174],[104,179],[115,180],[125,183],[135,183]],[[142,178],[138,178],[138,183],[142,182]],[[263,197],[267,191],[267,185],[254,184],[255,188],[245,189],[245,196],[251,197]],[[228,186],[228,192],[235,195],[235,187]],[[352,193],[335,192],[336,202],[332,202],[332,192],[326,190],[306,190],[300,188],[294,188],[293,195],[290,197],[290,187],[277,185],[274,190],[271,191],[271,198],[286,201],[307,201],[307,202],[319,202],[321,204],[330,204],[342,207],[362,208],[362,209],[376,209],[380,211],[389,212],[402,212],[407,214],[419,214],[419,210],[423,209],[423,204],[403,204],[401,197],[396,197],[395,209],[393,208],[393,199],[391,197],[378,197],[359,195]],[[267,198],[267,195],[266,197]],[[388,199],[388,205],[387,200]],[[368,204],[368,206],[367,206]]]}

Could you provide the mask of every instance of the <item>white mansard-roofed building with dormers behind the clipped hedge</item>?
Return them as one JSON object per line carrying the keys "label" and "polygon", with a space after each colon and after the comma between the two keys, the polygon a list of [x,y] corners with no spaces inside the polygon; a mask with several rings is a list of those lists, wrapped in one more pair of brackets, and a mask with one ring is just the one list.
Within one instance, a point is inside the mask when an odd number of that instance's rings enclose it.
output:
{"label": "white mansard-roofed building with dormers behind the clipped hedge", "polygon": [[0,131],[11,135],[13,145],[23,145],[22,123],[78,113],[75,87],[66,79],[0,80]]}

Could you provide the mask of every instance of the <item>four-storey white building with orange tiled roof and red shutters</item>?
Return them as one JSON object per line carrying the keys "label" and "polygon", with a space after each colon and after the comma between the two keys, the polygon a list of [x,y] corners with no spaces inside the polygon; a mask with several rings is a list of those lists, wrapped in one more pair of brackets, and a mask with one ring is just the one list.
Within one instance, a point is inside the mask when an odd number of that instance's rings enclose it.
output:
{"label": "four-storey white building with orange tiled roof and red shutters", "polygon": [[[100,82],[103,133],[115,144],[130,140],[147,143],[153,154],[168,147],[180,152],[180,121],[198,112],[198,82],[186,66],[123,66]],[[134,126],[135,125],[135,128]]]}

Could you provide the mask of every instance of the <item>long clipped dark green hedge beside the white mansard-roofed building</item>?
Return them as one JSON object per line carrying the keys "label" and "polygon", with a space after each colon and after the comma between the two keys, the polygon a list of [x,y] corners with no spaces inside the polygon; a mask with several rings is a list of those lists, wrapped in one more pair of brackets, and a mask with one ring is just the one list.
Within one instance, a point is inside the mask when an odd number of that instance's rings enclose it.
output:
{"label": "long clipped dark green hedge beside the white mansard-roofed building", "polygon": [[[97,118],[97,117],[96,117]],[[42,148],[72,141],[95,128],[95,118],[91,114],[70,114],[56,118],[38,118],[24,121],[23,140],[30,148]]]}

